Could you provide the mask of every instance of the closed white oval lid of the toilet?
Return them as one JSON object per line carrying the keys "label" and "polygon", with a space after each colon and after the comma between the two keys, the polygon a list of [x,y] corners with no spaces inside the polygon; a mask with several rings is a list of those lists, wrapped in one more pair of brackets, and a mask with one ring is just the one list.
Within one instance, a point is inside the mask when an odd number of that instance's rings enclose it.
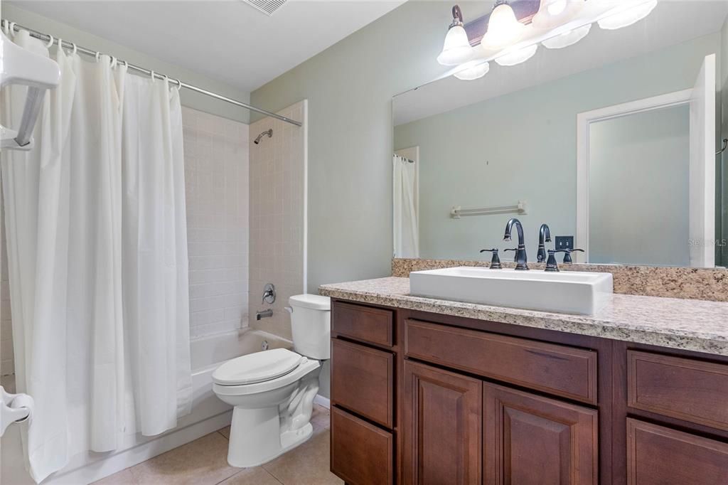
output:
{"label": "closed white oval lid of the toilet", "polygon": [[255,352],[223,363],[213,372],[213,381],[227,386],[265,382],[288,374],[305,360],[288,349]]}

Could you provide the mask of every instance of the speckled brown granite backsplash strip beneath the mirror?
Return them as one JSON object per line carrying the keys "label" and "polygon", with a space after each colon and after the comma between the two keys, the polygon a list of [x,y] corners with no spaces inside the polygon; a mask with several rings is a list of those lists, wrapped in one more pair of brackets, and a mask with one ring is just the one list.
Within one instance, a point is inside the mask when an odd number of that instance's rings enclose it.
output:
{"label": "speckled brown granite backsplash strip beneath the mirror", "polygon": [[[488,267],[488,261],[454,259],[392,259],[392,276],[409,277],[412,271],[457,266]],[[513,262],[503,262],[512,268]],[[531,269],[543,269],[543,263],[529,262]],[[562,266],[563,268],[563,266]],[[612,264],[571,264],[569,271],[612,273],[614,293],[623,295],[662,296],[708,301],[728,301],[728,270],[723,268],[668,268],[620,266]]]}

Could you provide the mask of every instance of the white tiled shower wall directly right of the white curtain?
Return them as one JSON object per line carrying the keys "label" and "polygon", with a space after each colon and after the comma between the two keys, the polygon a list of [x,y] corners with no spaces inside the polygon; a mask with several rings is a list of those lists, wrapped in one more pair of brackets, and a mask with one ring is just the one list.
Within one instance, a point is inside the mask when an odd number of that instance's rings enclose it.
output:
{"label": "white tiled shower wall directly right of the white curtain", "polygon": [[182,109],[191,336],[248,326],[248,125]]}

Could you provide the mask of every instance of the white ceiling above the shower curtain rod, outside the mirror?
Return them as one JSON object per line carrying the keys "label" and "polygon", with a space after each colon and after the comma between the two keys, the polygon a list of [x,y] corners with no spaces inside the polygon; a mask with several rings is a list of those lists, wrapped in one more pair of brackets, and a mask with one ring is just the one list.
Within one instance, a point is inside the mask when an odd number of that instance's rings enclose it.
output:
{"label": "white ceiling above the shower curtain rod, outside the mirror", "polygon": [[270,17],[243,0],[8,3],[253,91],[404,0],[288,0]]}

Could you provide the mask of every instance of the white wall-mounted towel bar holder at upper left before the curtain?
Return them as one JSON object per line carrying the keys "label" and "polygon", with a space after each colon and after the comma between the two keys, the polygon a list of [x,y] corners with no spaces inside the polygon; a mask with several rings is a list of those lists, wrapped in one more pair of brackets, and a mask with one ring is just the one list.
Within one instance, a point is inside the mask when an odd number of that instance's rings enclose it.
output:
{"label": "white wall-mounted towel bar holder at upper left before the curtain", "polygon": [[0,149],[33,148],[33,127],[43,106],[46,90],[58,87],[60,68],[46,58],[11,42],[0,32],[0,87],[8,84],[28,86],[23,117],[17,130],[0,125]]}

